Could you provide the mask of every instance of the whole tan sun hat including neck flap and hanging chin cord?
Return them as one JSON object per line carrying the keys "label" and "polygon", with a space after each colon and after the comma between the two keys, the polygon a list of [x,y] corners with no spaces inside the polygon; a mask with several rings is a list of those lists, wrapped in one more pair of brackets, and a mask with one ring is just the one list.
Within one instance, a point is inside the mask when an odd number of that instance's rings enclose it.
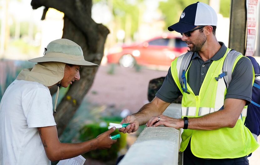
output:
{"label": "whole tan sun hat including neck flap and hanging chin cord", "polygon": [[59,96],[60,82],[64,77],[65,64],[85,67],[97,67],[89,61],[85,61],[81,47],[68,39],[51,41],[44,49],[44,56],[28,60],[38,62],[33,68],[23,69],[17,76],[17,80],[27,80],[41,83],[45,86],[57,84],[58,90],[55,97],[54,112],[56,112]]}

